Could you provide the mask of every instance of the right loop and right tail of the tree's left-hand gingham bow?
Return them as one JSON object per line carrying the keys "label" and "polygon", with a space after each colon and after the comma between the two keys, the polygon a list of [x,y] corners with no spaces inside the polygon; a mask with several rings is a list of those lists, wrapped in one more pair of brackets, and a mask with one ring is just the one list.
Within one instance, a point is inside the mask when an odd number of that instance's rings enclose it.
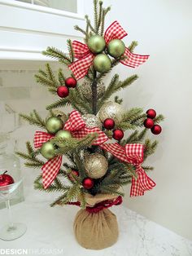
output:
{"label": "right loop and right tail of the tree's left-hand gingham bow", "polygon": [[98,133],[98,138],[94,140],[92,143],[93,145],[101,145],[108,140],[107,135],[105,135],[105,133],[98,127],[92,129],[87,128],[81,114],[76,110],[72,111],[70,114],[68,121],[66,121],[64,125],[64,130],[70,130],[72,132],[72,137],[76,139],[82,139],[91,133]]}

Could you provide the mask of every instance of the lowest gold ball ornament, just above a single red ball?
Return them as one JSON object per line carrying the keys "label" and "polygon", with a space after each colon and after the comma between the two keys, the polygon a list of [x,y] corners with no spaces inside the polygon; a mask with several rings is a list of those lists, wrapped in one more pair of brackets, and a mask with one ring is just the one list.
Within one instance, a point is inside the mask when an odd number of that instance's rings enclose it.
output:
{"label": "lowest gold ball ornament, just above a single red ball", "polygon": [[85,157],[85,171],[89,178],[99,179],[107,173],[108,161],[99,153]]}

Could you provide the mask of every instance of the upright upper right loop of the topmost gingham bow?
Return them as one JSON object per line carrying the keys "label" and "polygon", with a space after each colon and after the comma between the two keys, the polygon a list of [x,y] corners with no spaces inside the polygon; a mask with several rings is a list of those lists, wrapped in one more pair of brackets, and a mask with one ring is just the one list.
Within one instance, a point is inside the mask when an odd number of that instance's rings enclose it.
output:
{"label": "upright upper right loop of the topmost gingham bow", "polygon": [[119,22],[114,21],[106,30],[104,38],[105,42],[108,44],[113,39],[122,39],[126,37],[128,34],[124,29],[120,26]]}

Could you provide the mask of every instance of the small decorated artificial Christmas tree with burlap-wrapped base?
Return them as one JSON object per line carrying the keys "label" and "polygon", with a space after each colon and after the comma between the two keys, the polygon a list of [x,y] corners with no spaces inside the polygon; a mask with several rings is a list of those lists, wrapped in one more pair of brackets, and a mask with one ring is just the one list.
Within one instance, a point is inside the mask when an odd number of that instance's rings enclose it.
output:
{"label": "small decorated artificial Christmas tree with burlap-wrapped base", "polygon": [[[155,152],[157,141],[145,137],[147,129],[158,135],[158,123],[164,120],[162,115],[156,116],[154,109],[146,113],[142,108],[124,110],[123,99],[111,99],[137,79],[133,75],[120,81],[115,74],[106,86],[103,78],[111,68],[120,63],[135,68],[149,55],[133,53],[137,42],[125,46],[122,39],[127,33],[118,21],[104,32],[108,11],[110,8],[103,8],[102,1],[94,0],[94,25],[85,15],[86,29],[75,27],[85,35],[85,43],[68,40],[68,55],[55,47],[43,52],[66,65],[72,71],[71,77],[66,78],[61,68],[56,77],[46,64],[46,69],[37,73],[37,82],[61,99],[47,106],[45,119],[35,110],[20,115],[46,130],[36,132],[34,148],[27,142],[28,152],[18,152],[27,160],[26,166],[42,170],[35,188],[61,193],[51,206],[81,206],[74,232],[76,240],[89,249],[103,249],[116,242],[116,216],[108,208],[122,202],[122,186],[131,183],[130,196],[142,196],[155,186],[146,174],[153,167],[144,166],[143,162]],[[80,85],[81,78],[84,82]],[[65,112],[67,105],[75,108],[72,113]],[[126,130],[129,136],[124,138]]]}

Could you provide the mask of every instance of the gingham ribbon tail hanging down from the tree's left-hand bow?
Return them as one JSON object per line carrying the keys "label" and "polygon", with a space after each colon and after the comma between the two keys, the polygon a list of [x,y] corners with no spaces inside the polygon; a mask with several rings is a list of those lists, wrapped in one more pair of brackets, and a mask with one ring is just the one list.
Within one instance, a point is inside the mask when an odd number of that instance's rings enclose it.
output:
{"label": "gingham ribbon tail hanging down from the tree's left-hand bow", "polygon": [[45,165],[42,166],[42,182],[43,187],[46,189],[50,186],[50,184],[54,181],[56,175],[58,174],[61,167],[62,157],[57,156],[46,162]]}

